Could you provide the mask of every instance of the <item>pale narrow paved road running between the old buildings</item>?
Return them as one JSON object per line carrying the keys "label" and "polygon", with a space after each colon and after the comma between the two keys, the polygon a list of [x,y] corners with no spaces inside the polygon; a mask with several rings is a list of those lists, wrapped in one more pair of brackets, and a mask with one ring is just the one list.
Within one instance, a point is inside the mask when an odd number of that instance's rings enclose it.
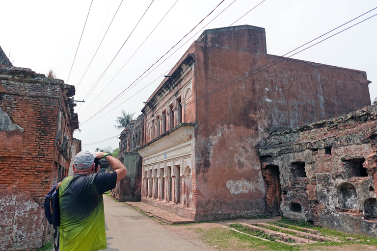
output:
{"label": "pale narrow paved road running between the old buildings", "polygon": [[135,209],[104,196],[108,251],[204,251]]}

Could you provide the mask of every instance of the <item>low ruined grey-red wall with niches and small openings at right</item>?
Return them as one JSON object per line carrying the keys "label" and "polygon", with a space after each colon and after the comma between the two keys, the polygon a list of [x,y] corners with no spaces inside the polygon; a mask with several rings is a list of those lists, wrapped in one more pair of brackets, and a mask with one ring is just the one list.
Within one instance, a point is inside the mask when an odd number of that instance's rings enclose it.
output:
{"label": "low ruined grey-red wall with niches and small openings at right", "polygon": [[271,132],[259,149],[269,213],[377,235],[377,106]]}

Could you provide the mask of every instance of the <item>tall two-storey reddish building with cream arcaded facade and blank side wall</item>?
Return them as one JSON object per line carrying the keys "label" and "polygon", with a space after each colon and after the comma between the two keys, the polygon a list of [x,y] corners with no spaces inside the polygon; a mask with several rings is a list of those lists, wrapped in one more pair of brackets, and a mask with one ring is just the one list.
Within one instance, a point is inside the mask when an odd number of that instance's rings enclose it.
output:
{"label": "tall two-storey reddish building with cream arcaded facade and blank side wall", "polygon": [[196,221],[266,214],[269,131],[370,104],[365,72],[288,58],[256,73],[277,58],[264,28],[200,35],[142,109],[141,201]]}

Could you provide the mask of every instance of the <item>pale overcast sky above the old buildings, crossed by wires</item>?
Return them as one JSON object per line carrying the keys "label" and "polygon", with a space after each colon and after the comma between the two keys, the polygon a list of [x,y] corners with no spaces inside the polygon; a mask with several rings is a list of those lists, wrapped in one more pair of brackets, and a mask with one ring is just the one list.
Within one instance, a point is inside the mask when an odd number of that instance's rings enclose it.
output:
{"label": "pale overcast sky above the old buildings, crossed by wires", "polygon": [[[57,78],[76,86],[74,99],[85,99],[75,108],[81,131],[74,133],[82,141],[83,150],[115,149],[119,145],[116,136],[121,130],[114,125],[121,110],[135,113],[136,118],[141,114],[143,101],[161,83],[162,75],[174,66],[203,30],[232,25],[261,1],[224,0],[215,9],[221,0],[93,0],[70,74],[91,0],[0,0],[0,46],[14,66],[45,75],[53,69]],[[376,7],[376,0],[265,0],[233,25],[265,28],[267,52],[280,56]],[[213,9],[207,19],[151,68],[158,66],[156,70],[148,71],[135,82],[135,87],[126,90]],[[341,29],[375,14],[377,9]],[[160,65],[167,56],[170,57]],[[367,72],[372,81],[370,96],[374,100],[377,96],[377,16],[293,58]],[[124,90],[119,100],[94,116]],[[109,138],[112,139],[106,140]]]}

